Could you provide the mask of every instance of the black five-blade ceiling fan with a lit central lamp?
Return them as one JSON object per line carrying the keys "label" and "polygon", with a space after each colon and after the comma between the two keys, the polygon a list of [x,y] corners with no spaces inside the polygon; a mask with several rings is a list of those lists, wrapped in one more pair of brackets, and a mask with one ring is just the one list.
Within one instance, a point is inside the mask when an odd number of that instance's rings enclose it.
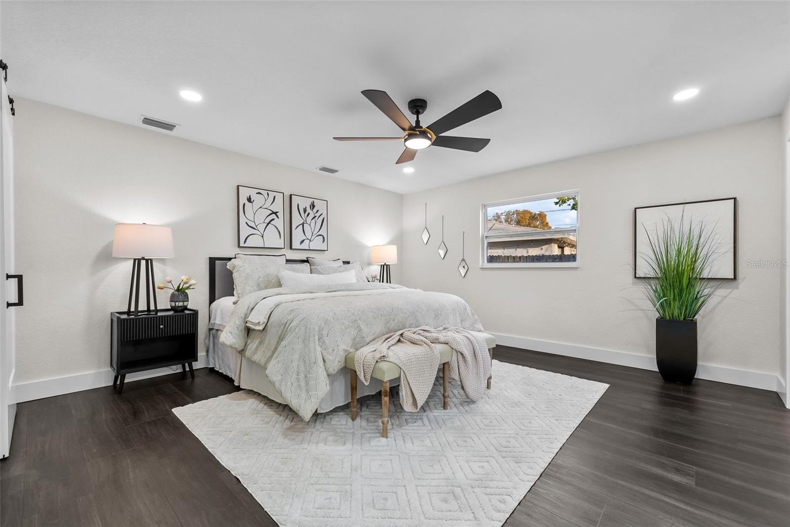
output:
{"label": "black five-blade ceiling fan with a lit central lamp", "polygon": [[398,127],[403,130],[401,137],[333,137],[335,141],[403,141],[404,149],[395,164],[408,163],[417,155],[417,150],[427,149],[429,146],[441,146],[446,149],[467,150],[468,152],[480,152],[491,139],[481,139],[480,137],[453,137],[442,135],[453,130],[462,124],[480,119],[483,115],[502,108],[498,96],[486,90],[474,99],[457,107],[449,114],[438,121],[434,121],[429,126],[419,124],[419,116],[425,113],[428,103],[424,99],[412,99],[408,101],[408,111],[416,115],[415,123],[406,119],[397,104],[387,95],[386,92],[378,89],[366,89],[362,92],[371,103],[384,112],[384,115],[392,119]]}

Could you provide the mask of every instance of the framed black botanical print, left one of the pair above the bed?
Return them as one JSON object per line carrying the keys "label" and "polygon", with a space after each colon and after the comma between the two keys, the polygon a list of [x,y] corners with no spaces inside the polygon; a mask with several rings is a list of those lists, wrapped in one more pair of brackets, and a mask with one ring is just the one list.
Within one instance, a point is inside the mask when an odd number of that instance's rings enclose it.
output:
{"label": "framed black botanical print, left one of the pair above the bed", "polygon": [[239,247],[285,248],[285,194],[236,186]]}

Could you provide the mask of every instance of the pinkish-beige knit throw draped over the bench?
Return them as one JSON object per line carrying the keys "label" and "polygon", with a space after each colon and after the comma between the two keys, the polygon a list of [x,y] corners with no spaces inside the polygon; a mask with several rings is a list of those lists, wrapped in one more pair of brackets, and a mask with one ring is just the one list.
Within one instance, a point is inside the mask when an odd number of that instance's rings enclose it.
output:
{"label": "pinkish-beige knit throw draped over the bench", "polygon": [[453,348],[450,378],[461,381],[466,396],[477,401],[491,375],[491,360],[482,337],[466,329],[427,326],[401,329],[379,337],[356,352],[354,366],[366,385],[371,382],[378,360],[389,360],[401,368],[401,406],[416,412],[431,393],[439,367],[439,352],[432,344]]}

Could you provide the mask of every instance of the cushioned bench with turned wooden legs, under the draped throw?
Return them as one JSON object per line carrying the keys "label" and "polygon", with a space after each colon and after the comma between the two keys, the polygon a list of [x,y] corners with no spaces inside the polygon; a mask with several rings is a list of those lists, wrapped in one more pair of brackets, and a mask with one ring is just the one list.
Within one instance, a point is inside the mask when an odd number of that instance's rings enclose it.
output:
{"label": "cushioned bench with turned wooden legs, under the draped throw", "polygon": [[[475,332],[473,332],[475,333]],[[486,341],[488,348],[488,356],[490,359],[494,358],[494,346],[496,339],[488,333],[477,333]],[[444,409],[448,407],[450,395],[448,393],[448,386],[450,384],[450,359],[453,358],[453,348],[447,344],[434,344],[434,347],[439,352],[439,363],[442,364],[442,385],[444,388]],[[349,353],[345,359],[345,366],[351,370],[351,420],[356,420],[356,382],[357,373],[354,365],[356,352]],[[378,378],[382,382],[382,437],[387,437],[387,430],[389,428],[389,381],[393,378],[401,376],[401,368],[396,363],[391,363],[389,360],[379,360],[373,367],[372,378]],[[491,375],[488,376],[487,386],[491,390]]]}

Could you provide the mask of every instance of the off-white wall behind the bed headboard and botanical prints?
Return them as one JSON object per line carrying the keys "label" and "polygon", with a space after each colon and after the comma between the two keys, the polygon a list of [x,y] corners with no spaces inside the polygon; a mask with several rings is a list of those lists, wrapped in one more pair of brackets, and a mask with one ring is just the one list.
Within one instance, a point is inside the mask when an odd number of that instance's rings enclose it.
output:
{"label": "off-white wall behind the bed headboard and botanical prints", "polygon": [[[126,309],[131,271],[130,260],[110,256],[117,222],[173,228],[176,258],[157,260],[156,276],[198,280],[190,307],[200,310],[201,328],[208,258],[239,250],[237,184],[329,200],[329,251],[285,250],[289,257],[365,265],[371,245],[401,246],[401,194],[30,100],[17,99],[14,125],[17,271],[25,279],[17,383],[109,367],[110,311]],[[400,269],[393,265],[393,280]]]}

